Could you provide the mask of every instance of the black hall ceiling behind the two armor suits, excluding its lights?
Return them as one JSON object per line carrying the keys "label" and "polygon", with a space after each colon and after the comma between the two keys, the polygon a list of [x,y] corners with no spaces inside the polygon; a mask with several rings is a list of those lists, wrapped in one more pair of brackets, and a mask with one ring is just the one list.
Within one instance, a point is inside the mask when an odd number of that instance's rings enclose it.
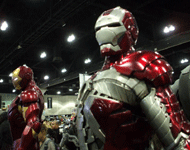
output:
{"label": "black hall ceiling behind the two armor suits, excluding its lights", "polygon": [[[12,93],[9,74],[26,64],[46,94],[73,95],[79,89],[79,73],[99,70],[100,56],[94,24],[105,10],[121,6],[133,13],[139,27],[137,50],[160,52],[174,68],[174,80],[190,61],[190,2],[188,0],[1,0],[0,92]],[[173,25],[173,32],[164,27]],[[70,35],[75,36],[68,42]],[[46,57],[40,54],[45,52]],[[86,59],[91,62],[85,64]],[[65,69],[67,70],[64,72]],[[62,72],[63,71],[63,72]],[[44,80],[48,75],[49,79]],[[2,80],[1,80],[2,79]],[[72,91],[69,91],[72,89]]]}

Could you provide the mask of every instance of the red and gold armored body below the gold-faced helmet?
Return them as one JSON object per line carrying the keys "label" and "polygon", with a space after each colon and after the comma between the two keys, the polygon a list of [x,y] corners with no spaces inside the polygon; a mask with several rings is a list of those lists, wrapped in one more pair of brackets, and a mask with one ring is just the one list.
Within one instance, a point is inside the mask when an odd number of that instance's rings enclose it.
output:
{"label": "red and gold armored body below the gold-faced helmet", "polygon": [[28,87],[13,100],[8,110],[14,148],[20,145],[24,150],[39,149],[38,139],[33,137],[33,133],[40,132],[43,108],[43,95],[35,82],[31,81]]}

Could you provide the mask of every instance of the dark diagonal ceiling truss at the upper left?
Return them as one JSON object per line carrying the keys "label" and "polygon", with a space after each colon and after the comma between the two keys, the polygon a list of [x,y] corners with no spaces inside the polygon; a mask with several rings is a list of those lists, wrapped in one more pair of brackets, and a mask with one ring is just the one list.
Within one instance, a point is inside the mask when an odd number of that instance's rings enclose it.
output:
{"label": "dark diagonal ceiling truss at the upper left", "polygon": [[[59,4],[58,4],[59,3]],[[0,61],[0,70],[3,71],[10,64],[7,62],[10,58],[12,61],[18,57],[18,55],[23,55],[31,44],[39,42],[42,37],[49,34],[53,29],[59,25],[59,21],[64,19],[68,20],[79,10],[84,9],[89,5],[88,0],[76,0],[69,1],[66,4],[62,4],[59,1],[54,8],[52,9],[52,18],[49,17],[49,12],[45,14],[40,20],[38,20],[27,32],[25,32],[13,45],[11,45],[5,52],[5,58],[1,58]],[[57,8],[58,7],[58,8]],[[19,44],[20,43],[20,44]],[[21,45],[21,49],[18,51],[18,45]]]}

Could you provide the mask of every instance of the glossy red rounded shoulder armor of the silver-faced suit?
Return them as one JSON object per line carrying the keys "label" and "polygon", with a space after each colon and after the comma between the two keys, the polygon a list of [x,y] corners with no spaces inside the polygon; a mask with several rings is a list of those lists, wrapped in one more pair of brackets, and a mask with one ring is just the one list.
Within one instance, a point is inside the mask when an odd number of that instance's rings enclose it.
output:
{"label": "glossy red rounded shoulder armor of the silver-faced suit", "polygon": [[148,81],[155,87],[172,82],[172,67],[163,56],[153,51],[134,52],[114,67],[122,74]]}

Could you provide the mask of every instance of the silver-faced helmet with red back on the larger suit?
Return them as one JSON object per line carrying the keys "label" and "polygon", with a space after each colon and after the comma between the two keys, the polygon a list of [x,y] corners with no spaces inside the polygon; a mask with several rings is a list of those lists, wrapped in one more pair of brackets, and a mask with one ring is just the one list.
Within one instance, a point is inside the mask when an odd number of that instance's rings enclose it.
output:
{"label": "silver-faced helmet with red back on the larger suit", "polygon": [[119,6],[100,15],[95,31],[102,56],[129,51],[136,44],[139,33],[132,13]]}

